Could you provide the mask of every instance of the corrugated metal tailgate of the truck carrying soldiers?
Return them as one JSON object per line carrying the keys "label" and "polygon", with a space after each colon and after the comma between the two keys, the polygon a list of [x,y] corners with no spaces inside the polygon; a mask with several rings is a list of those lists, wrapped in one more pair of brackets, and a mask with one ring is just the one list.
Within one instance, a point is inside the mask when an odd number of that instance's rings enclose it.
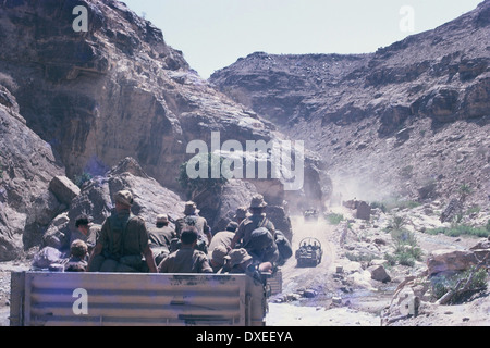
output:
{"label": "corrugated metal tailgate of the truck carrying soldiers", "polygon": [[[253,321],[247,286],[242,274],[26,272],[23,324],[245,326]],[[84,300],[86,313],[76,314]]]}

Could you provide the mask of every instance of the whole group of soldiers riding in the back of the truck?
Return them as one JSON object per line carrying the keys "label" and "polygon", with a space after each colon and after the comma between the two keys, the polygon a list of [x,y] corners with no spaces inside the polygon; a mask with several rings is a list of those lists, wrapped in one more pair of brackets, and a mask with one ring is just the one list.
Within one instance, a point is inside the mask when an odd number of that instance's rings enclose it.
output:
{"label": "whole group of soldiers riding in the back of the truck", "polygon": [[131,212],[128,190],[118,191],[113,201],[114,210],[102,225],[90,224],[86,215],[76,220],[78,235],[72,238],[64,271],[272,273],[284,257],[277,241],[285,238],[266,216],[261,195],[238,208],[226,228],[216,234],[192,201],[185,203],[184,217],[171,222],[159,214],[150,227]]}

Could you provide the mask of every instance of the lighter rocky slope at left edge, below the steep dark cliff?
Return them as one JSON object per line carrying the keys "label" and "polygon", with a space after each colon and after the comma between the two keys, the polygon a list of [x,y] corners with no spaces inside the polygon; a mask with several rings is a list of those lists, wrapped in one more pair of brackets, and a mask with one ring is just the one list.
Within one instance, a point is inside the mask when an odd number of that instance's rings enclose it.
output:
{"label": "lighter rocky slope at left edge, below the steep dark cliff", "polygon": [[[1,84],[1,83],[0,83]],[[51,146],[26,126],[12,94],[0,85],[0,260],[39,244],[65,207],[49,190],[64,175]]]}

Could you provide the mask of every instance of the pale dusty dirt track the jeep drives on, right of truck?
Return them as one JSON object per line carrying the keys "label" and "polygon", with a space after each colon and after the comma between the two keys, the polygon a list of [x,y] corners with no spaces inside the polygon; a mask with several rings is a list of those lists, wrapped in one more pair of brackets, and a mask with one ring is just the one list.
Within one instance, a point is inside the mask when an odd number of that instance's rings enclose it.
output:
{"label": "pale dusty dirt track the jeep drives on, right of truck", "polygon": [[355,308],[331,308],[332,295],[338,293],[333,282],[336,263],[339,235],[336,226],[329,225],[323,219],[305,222],[303,216],[291,217],[293,224],[293,251],[306,237],[317,238],[321,243],[323,257],[316,268],[298,268],[293,256],[282,266],[282,295],[299,289],[313,289],[315,298],[302,298],[289,303],[269,303],[267,326],[379,326],[378,315]]}

